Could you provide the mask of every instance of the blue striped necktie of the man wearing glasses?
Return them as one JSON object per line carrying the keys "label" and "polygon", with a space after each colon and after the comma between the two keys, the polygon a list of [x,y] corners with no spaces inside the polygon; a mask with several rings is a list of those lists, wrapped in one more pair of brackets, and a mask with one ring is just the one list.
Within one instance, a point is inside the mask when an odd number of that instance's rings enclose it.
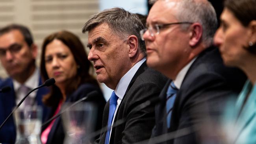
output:
{"label": "blue striped necktie of the man wearing glasses", "polygon": [[176,98],[176,92],[178,89],[175,87],[173,81],[169,85],[167,92],[166,92],[166,112],[167,112],[167,127],[170,128],[171,125],[171,115],[173,111],[173,104]]}

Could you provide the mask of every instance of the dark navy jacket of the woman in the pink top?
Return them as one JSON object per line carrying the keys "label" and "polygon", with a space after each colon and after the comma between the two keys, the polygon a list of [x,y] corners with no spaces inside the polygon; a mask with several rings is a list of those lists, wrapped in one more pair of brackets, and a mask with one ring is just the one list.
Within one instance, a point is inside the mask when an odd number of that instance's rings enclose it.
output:
{"label": "dark navy jacket of the woman in the pink top", "polygon": [[[98,108],[97,121],[96,121],[96,129],[98,130],[101,128],[103,109],[104,109],[104,105],[106,104],[106,100],[104,99],[103,94],[98,86],[92,85],[90,83],[84,83],[80,85],[76,91],[74,91],[72,94],[67,96],[65,103],[76,102],[77,100],[80,100],[81,98],[87,96],[89,92],[92,92],[95,90],[99,93],[99,95],[95,98],[87,99],[86,102],[93,102],[96,104]],[[52,108],[52,111],[46,120],[50,119],[53,116],[53,114],[56,111],[56,108],[57,106]],[[63,140],[65,138],[65,131],[63,130],[63,125],[61,121],[62,120],[60,116],[56,118],[50,130],[50,133],[48,135],[46,144],[62,144],[63,143]],[[50,122],[42,127],[42,132],[48,127],[49,124]]]}

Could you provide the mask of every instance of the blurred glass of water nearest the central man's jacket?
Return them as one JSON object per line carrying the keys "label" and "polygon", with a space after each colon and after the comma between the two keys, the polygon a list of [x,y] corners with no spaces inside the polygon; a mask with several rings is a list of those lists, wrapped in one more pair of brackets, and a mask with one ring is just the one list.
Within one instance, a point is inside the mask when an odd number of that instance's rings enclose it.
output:
{"label": "blurred glass of water nearest the central man's jacket", "polygon": [[64,144],[90,144],[93,137],[96,119],[96,107],[93,103],[84,102],[71,106],[72,103],[65,103],[61,114],[65,130]]}

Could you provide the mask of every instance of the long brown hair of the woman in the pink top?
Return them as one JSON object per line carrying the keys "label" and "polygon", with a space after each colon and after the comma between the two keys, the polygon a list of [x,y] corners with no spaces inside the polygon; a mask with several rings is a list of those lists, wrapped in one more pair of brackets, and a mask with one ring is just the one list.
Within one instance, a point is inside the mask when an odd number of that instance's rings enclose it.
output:
{"label": "long brown hair of the woman in the pink top", "polygon": [[[45,49],[46,46],[54,39],[58,39],[59,41],[63,42],[63,44],[68,46],[72,55],[74,56],[76,64],[78,65],[76,76],[69,81],[69,86],[66,87],[67,95],[74,92],[82,83],[88,82],[98,85],[96,79],[89,74],[89,69],[92,68],[92,64],[87,59],[87,54],[82,42],[76,35],[70,33],[69,31],[59,31],[45,38],[41,54],[41,74],[43,79],[49,79],[45,69]],[[44,96],[43,102],[48,106],[54,106],[58,105],[60,99],[61,92],[59,88],[54,85],[50,87],[50,93]]]}

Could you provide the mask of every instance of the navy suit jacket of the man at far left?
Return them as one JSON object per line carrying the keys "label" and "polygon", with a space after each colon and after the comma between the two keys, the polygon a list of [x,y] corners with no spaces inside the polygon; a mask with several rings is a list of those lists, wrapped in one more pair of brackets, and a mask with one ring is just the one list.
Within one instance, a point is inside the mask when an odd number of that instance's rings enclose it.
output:
{"label": "navy suit jacket of the man at far left", "polygon": [[[40,78],[39,85],[41,84],[42,84],[42,80]],[[10,86],[11,91],[6,93],[0,93],[0,123],[1,124],[4,122],[7,116],[11,113],[11,111],[13,110],[13,107],[16,106],[16,102],[15,102],[16,96],[13,88],[13,81],[11,78],[7,78],[5,81],[3,81],[0,84],[0,88],[5,86]],[[42,102],[43,95],[47,94],[48,92],[49,92],[48,88],[43,87],[41,89],[38,89],[37,95],[35,97],[37,105],[41,105],[43,107],[43,118],[45,118],[47,113],[49,112],[49,109],[45,107]],[[0,143],[14,144],[15,138],[16,138],[16,128],[15,128],[13,116],[11,116],[9,120],[6,122],[6,124],[0,130]]]}

